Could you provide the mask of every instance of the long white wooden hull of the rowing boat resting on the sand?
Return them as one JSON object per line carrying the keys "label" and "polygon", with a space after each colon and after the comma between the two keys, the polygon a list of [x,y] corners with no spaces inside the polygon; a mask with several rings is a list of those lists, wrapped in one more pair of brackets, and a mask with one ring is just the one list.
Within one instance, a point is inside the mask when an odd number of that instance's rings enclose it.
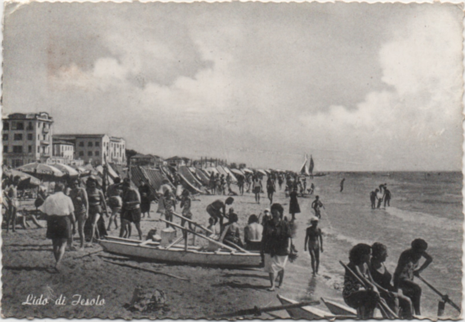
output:
{"label": "long white wooden hull of the rowing boat resting on the sand", "polygon": [[158,242],[107,237],[99,241],[103,250],[117,255],[142,258],[150,261],[181,263],[218,267],[259,267],[258,252],[234,252],[230,250],[203,251],[196,246],[173,245],[169,249]]}

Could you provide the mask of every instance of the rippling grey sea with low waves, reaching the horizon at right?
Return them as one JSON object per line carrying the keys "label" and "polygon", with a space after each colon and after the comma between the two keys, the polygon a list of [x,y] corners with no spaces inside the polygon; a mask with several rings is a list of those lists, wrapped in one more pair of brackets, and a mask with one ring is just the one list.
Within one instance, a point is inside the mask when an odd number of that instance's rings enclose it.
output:
{"label": "rippling grey sea with low waves, reaching the horizon at right", "polygon": [[[345,184],[340,192],[342,178]],[[344,269],[339,261],[348,263],[354,245],[385,244],[385,264],[393,273],[402,251],[410,248],[415,238],[422,238],[428,243],[427,253],[433,262],[421,276],[461,306],[462,181],[461,172],[332,172],[307,179],[307,187],[313,182],[316,189],[313,196],[299,198],[301,213],[292,227],[299,256],[286,266],[286,287],[281,293],[299,301],[324,295],[343,303]],[[380,184],[387,184],[391,203],[372,210],[369,194]],[[324,252],[320,256],[319,276],[312,277],[310,256],[303,246],[305,229],[314,214],[311,203],[315,195],[319,195],[326,209],[319,221]],[[416,282],[423,289],[421,315],[437,318],[440,297],[419,279]],[[442,318],[458,317],[458,311],[446,304]]]}

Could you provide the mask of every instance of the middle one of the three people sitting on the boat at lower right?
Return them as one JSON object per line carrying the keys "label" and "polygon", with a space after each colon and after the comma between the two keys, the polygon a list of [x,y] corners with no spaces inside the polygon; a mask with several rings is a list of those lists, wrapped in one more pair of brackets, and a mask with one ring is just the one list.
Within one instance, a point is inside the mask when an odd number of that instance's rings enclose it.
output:
{"label": "middle one of the three people sitting on the boat at lower right", "polygon": [[377,285],[389,291],[389,294],[385,292],[380,293],[380,296],[385,299],[387,305],[398,315],[400,309],[400,318],[410,320],[413,318],[412,301],[407,296],[398,293],[397,289],[394,289],[394,286],[391,284],[392,275],[384,264],[386,258],[387,247],[382,243],[373,243],[370,274]]}

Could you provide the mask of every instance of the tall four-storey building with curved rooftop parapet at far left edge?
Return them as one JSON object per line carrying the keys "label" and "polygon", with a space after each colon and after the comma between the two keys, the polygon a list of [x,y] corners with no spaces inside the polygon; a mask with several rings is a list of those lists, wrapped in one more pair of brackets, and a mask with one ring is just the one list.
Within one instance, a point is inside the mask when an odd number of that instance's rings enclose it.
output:
{"label": "tall four-storey building with curved rooftop parapet at far left edge", "polygon": [[45,163],[52,156],[52,136],[53,118],[46,112],[8,115],[3,118],[3,164]]}

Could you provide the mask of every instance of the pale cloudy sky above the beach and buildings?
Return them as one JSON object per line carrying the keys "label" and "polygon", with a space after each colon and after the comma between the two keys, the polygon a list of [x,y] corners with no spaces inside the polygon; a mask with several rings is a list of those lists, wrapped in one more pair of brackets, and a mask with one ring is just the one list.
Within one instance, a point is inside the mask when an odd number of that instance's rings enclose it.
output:
{"label": "pale cloudy sky above the beach and buildings", "polygon": [[165,158],[459,171],[462,7],[32,3],[5,9],[3,115]]}

